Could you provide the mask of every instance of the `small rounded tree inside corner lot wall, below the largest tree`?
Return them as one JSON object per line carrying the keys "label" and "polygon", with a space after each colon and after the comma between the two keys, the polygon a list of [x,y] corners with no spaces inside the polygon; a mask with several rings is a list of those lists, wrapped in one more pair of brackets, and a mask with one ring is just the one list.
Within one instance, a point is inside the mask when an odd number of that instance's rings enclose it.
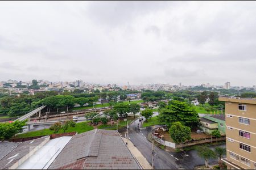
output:
{"label": "small rounded tree inside corner lot wall, below the largest tree", "polygon": [[184,143],[191,139],[191,129],[187,126],[182,125],[180,122],[174,122],[169,129],[171,138],[176,143]]}

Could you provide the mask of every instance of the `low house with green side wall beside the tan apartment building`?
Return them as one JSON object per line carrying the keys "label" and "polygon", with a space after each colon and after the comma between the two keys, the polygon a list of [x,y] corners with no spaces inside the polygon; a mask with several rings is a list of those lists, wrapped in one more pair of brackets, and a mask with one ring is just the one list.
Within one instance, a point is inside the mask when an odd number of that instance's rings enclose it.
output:
{"label": "low house with green side wall beside the tan apartment building", "polygon": [[224,114],[205,115],[200,118],[200,123],[200,128],[207,134],[212,133],[214,130],[220,131],[221,135],[226,134]]}

